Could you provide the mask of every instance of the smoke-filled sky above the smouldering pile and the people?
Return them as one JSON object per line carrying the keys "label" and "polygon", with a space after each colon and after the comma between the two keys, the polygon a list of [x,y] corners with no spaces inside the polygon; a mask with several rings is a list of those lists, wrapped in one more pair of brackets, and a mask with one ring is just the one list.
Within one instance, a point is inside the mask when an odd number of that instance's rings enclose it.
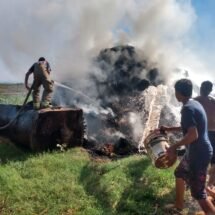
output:
{"label": "smoke-filled sky above the smouldering pile and the people", "polygon": [[119,44],[167,76],[181,68],[215,82],[214,9],[213,0],[0,1],[0,82],[23,82],[41,56],[55,80],[83,78],[101,49]]}

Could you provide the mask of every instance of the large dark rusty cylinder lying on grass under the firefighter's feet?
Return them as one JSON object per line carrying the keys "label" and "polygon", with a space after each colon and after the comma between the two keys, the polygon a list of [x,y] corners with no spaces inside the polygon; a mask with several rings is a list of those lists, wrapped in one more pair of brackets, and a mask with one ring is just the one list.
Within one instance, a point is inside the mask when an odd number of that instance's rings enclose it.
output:
{"label": "large dark rusty cylinder lying on grass under the firefighter's feet", "polygon": [[42,109],[35,111],[26,107],[17,117],[21,106],[0,105],[0,135],[9,138],[17,146],[43,151],[83,144],[83,111],[72,108]]}

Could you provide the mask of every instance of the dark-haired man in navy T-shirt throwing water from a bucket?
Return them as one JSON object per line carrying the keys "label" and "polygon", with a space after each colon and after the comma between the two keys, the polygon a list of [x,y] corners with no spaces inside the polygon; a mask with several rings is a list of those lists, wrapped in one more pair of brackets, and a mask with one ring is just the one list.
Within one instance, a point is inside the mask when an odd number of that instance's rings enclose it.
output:
{"label": "dark-haired man in navy T-shirt throwing water from a bucket", "polygon": [[191,99],[192,82],[188,79],[178,80],[175,84],[175,96],[183,104],[181,110],[181,127],[164,127],[165,131],[181,131],[183,138],[167,149],[169,156],[176,149],[186,146],[186,153],[175,170],[176,201],[173,208],[180,211],[184,207],[185,182],[189,185],[191,195],[198,201],[205,214],[215,214],[215,207],[207,198],[206,175],[213,149],[208,139],[207,117],[202,105]]}

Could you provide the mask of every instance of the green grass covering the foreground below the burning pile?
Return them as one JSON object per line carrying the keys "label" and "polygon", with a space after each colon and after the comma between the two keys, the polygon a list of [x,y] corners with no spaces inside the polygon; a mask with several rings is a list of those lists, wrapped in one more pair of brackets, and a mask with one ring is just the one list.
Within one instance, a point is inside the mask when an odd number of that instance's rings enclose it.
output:
{"label": "green grass covering the foreground below the burning pile", "polygon": [[143,155],[111,161],[83,148],[32,154],[3,139],[0,162],[1,215],[162,215],[173,199],[173,169],[158,170]]}

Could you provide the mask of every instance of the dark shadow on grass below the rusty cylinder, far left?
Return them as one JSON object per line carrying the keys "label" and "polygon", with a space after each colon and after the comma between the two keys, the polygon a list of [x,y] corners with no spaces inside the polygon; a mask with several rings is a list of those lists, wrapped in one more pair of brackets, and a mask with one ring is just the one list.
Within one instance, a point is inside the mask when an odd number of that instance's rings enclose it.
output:
{"label": "dark shadow on grass below the rusty cylinder, far left", "polygon": [[0,140],[0,164],[7,164],[10,161],[24,161],[32,155],[28,150],[20,149],[9,140]]}

